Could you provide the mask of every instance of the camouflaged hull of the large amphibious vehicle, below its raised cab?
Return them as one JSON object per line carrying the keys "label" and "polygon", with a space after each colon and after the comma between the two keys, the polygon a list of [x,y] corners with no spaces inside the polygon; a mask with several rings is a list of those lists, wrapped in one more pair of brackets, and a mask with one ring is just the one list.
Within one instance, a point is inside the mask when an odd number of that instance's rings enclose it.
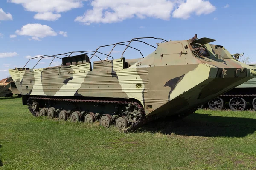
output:
{"label": "camouflaged hull of the large amphibious vehicle, below its raised cab", "polygon": [[203,63],[117,71],[90,71],[87,67],[82,64],[9,72],[24,96],[134,99],[148,116],[184,113],[252,78],[248,76],[250,69],[235,77],[236,68]]}

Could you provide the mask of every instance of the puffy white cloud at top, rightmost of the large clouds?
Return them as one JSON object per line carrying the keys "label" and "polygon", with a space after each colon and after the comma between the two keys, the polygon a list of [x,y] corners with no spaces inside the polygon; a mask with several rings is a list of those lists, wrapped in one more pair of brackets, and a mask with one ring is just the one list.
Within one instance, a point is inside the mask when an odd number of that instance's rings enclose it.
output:
{"label": "puffy white cloud at top, rightmost of the large clouds", "polygon": [[191,14],[196,15],[210,14],[216,10],[209,1],[205,0],[187,0],[179,5],[175,11],[173,11],[172,16],[174,18],[188,19]]}

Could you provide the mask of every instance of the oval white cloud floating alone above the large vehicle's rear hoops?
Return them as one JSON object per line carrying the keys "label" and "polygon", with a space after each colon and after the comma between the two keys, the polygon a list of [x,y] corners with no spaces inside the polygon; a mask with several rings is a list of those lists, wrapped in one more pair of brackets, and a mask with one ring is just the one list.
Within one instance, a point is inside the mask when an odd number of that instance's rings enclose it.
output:
{"label": "oval white cloud floating alone above the large vehicle's rear hoops", "polygon": [[40,41],[39,38],[57,35],[57,33],[51,27],[41,24],[27,24],[22,26],[20,30],[16,30],[15,33],[18,35],[31,36],[32,40],[38,41]]}

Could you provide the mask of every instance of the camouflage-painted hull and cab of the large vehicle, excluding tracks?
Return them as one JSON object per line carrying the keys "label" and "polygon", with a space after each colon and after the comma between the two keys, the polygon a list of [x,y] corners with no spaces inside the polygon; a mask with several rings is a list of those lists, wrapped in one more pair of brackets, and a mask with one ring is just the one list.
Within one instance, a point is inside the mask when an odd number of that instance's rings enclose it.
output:
{"label": "camouflage-painted hull and cab of the large vehicle, excluding tracks", "polygon": [[191,40],[169,41],[145,58],[97,61],[93,70],[87,62],[9,73],[23,95],[136,99],[146,115],[186,112],[255,77],[222,46],[205,44],[208,56],[192,50]]}

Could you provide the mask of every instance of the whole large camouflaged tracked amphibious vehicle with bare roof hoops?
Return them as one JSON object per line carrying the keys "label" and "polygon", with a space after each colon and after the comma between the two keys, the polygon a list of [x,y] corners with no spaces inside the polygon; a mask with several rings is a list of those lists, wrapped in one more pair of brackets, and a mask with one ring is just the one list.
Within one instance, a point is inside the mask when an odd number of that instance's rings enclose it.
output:
{"label": "whole large camouflaged tracked amphibious vehicle with bare roof hoops", "polygon": [[[146,39],[162,42],[155,47],[143,41]],[[154,50],[144,57],[139,49],[131,47],[134,41]],[[39,69],[25,65],[9,69],[9,73],[23,95],[23,104],[35,116],[87,123],[99,119],[104,127],[114,124],[119,129],[133,130],[151,119],[185,117],[199,104],[255,77],[250,66],[233,59],[223,46],[210,44],[214,41],[196,35],[180,41],[135,38],[100,46],[96,51],[41,56],[53,57],[52,62],[61,59],[62,64],[50,67],[51,62],[49,67]],[[120,58],[113,59],[111,52],[117,45],[126,48]],[[107,46],[113,46],[109,54],[99,52]],[[139,51],[141,57],[125,59],[127,48]],[[99,58],[93,67],[92,57]]]}

